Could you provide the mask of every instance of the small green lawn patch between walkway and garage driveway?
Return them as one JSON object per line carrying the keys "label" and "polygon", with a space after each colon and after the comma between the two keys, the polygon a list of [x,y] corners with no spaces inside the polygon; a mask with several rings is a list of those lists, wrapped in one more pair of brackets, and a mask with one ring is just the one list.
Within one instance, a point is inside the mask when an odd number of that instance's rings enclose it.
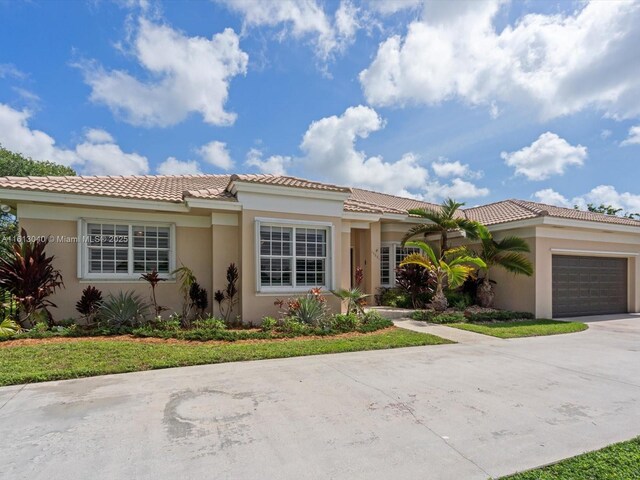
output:
{"label": "small green lawn patch between walkway and garage driveway", "polygon": [[581,322],[561,322],[545,319],[513,322],[451,323],[448,326],[498,338],[557,335],[559,333],[581,332],[588,328]]}

